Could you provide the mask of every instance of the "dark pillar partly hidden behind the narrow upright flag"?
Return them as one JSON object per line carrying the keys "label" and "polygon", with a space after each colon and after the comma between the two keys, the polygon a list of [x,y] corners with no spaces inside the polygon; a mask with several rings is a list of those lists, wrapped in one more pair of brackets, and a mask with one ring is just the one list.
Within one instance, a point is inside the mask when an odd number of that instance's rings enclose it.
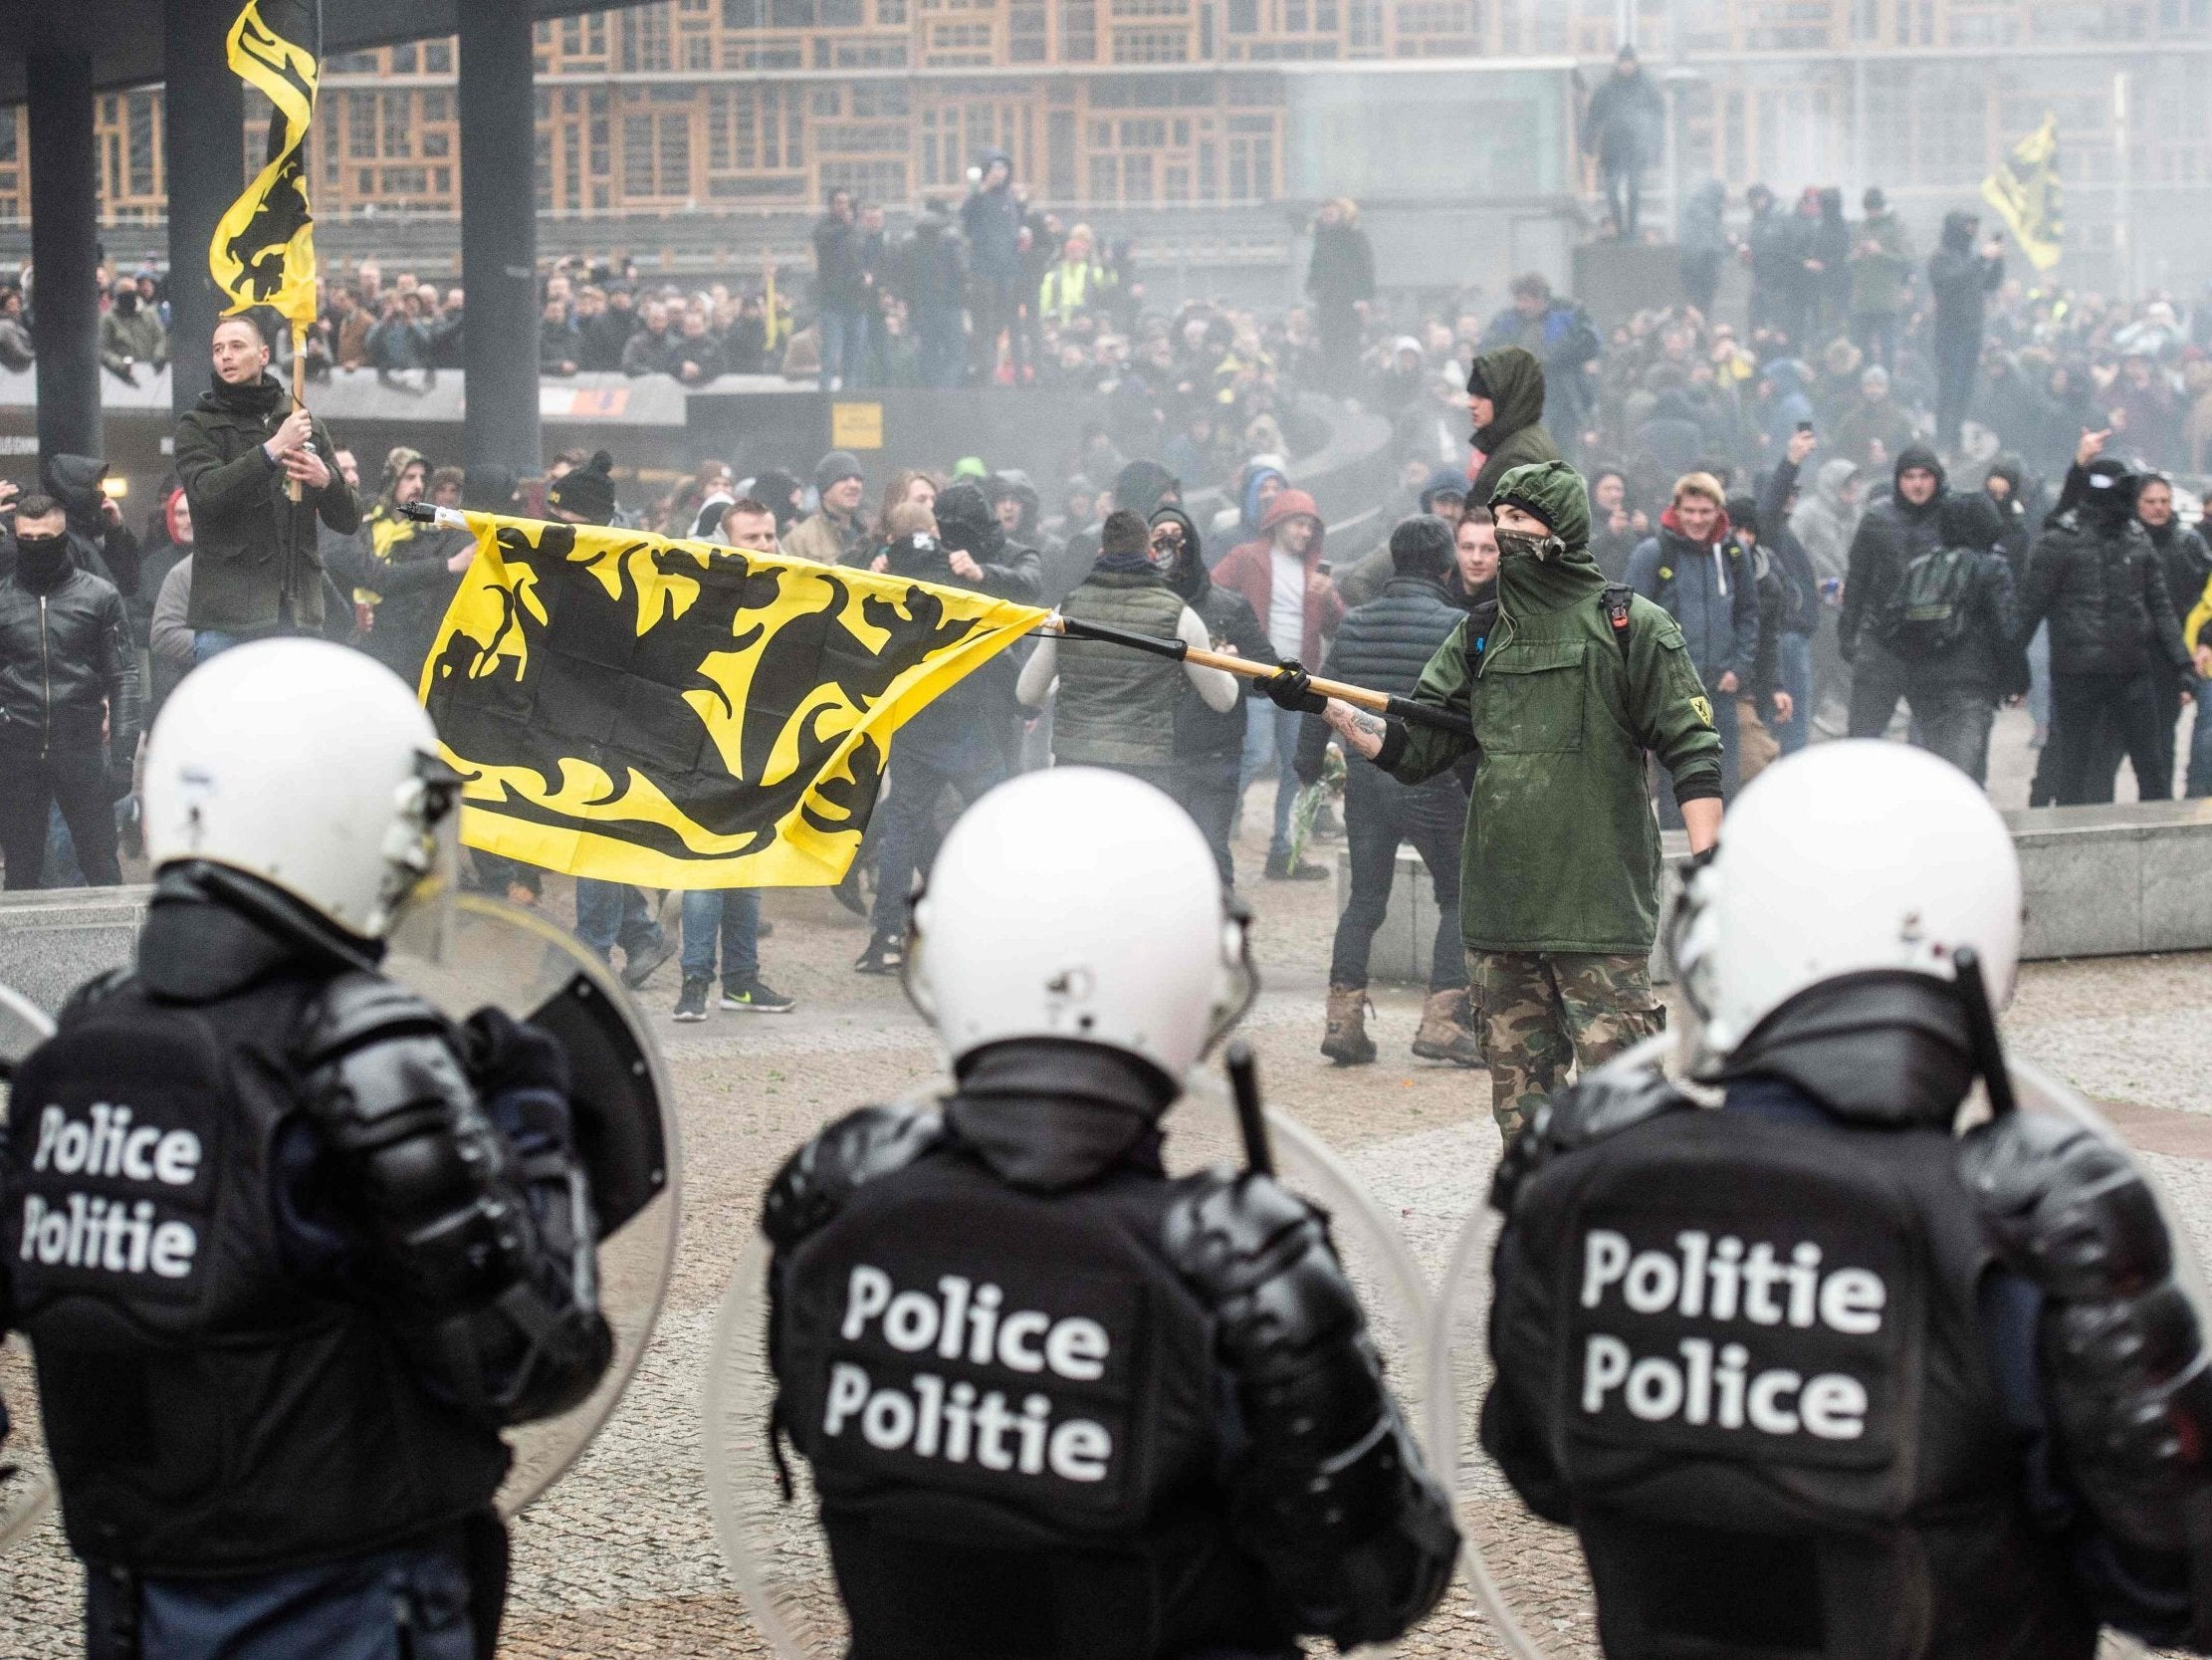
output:
{"label": "dark pillar partly hidden behind the narrow upright flag", "polygon": [[[246,82],[230,73],[223,35],[232,0],[164,0],[166,84],[161,146],[168,173],[168,354],[177,414],[208,390],[208,339],[228,303],[208,277],[215,221],[246,188]],[[330,128],[316,122],[314,146]],[[312,188],[312,186],[310,186]]]}

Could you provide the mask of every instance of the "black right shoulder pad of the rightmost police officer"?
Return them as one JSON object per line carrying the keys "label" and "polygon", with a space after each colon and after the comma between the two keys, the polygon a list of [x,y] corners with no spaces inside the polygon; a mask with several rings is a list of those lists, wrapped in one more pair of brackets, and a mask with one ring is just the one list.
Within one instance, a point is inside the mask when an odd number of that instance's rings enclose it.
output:
{"label": "black right shoulder pad of the rightmost police officer", "polygon": [[1958,1173],[1991,1244],[2051,1297],[2130,1295],[2172,1273],[2166,1217],[2128,1149],[2044,1113],[1971,1129]]}

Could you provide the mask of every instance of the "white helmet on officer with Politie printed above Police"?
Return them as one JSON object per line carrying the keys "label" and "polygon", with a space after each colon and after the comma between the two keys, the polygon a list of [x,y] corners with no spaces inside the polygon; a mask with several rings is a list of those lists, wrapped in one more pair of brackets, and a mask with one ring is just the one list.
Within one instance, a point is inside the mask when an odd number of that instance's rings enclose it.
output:
{"label": "white helmet on officer with Politie printed above Police", "polygon": [[1982,788],[1936,755],[1851,739],[1770,766],[1728,808],[1670,927],[1708,1071],[1805,987],[1902,969],[1955,978],[1971,945],[1993,1007],[2020,965],[2020,861]]}

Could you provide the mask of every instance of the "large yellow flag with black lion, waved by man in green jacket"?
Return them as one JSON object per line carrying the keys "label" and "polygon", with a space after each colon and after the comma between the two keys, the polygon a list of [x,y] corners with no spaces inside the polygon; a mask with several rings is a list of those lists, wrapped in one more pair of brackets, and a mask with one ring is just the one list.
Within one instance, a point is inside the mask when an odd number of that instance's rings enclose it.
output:
{"label": "large yellow flag with black lion, waved by man in green jacket", "polygon": [[422,666],[460,839],[644,888],[838,881],[891,735],[1046,613],[599,525],[440,516],[476,562]]}

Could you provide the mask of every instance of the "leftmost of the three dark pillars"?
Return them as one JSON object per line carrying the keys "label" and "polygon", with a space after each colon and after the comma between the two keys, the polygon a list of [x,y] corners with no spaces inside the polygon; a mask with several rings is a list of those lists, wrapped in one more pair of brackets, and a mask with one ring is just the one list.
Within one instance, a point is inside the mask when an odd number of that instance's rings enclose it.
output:
{"label": "leftmost of the three dark pillars", "polygon": [[31,104],[31,345],[38,350],[38,454],[97,456],[100,181],[93,166],[93,60],[38,53]]}

